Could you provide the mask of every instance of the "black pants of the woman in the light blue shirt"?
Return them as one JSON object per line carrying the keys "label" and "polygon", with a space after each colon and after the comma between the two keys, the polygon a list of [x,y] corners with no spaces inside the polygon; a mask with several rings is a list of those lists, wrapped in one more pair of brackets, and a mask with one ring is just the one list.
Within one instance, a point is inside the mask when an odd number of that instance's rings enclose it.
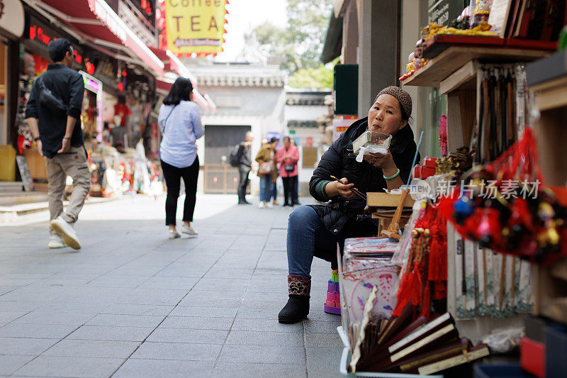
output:
{"label": "black pants of the woman in the light blue shirt", "polygon": [[199,176],[199,158],[195,157],[193,165],[186,168],[177,168],[162,160],[162,171],[164,172],[165,184],[167,185],[167,199],[165,200],[165,224],[175,226],[177,213],[177,199],[179,198],[179,187],[181,177],[185,184],[185,204],[183,209],[183,221],[192,222],[195,211],[197,196],[197,179]]}

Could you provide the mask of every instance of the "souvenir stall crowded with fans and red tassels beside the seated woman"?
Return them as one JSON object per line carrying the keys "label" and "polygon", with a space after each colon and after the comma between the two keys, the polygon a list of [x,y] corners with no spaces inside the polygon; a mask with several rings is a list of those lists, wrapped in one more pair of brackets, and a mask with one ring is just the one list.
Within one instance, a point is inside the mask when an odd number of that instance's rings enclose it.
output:
{"label": "souvenir stall crowded with fans and red tassels beside the seated woman", "polygon": [[[415,101],[423,159],[405,187],[367,193],[378,237],[347,239],[332,274],[325,311],[342,314],[341,371],[563,377],[565,4],[402,3],[391,84]],[[384,142],[355,145],[364,155]]]}

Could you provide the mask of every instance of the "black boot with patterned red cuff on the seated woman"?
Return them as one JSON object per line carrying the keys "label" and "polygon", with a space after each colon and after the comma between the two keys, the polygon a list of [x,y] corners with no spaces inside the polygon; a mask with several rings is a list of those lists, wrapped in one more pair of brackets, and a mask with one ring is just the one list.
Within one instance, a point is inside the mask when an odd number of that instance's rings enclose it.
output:
{"label": "black boot with patterned red cuff on the seated woman", "polygon": [[278,314],[280,323],[297,323],[305,319],[309,313],[309,293],[311,279],[295,274],[288,275],[289,299]]}

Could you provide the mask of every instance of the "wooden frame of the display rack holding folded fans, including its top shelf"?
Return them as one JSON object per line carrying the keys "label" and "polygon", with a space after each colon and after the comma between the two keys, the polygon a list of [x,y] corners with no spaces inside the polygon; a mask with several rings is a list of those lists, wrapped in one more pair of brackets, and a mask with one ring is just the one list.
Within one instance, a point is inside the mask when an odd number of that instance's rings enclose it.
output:
{"label": "wooden frame of the display rack holding folded fans, including its top shelf", "polygon": [[[417,87],[439,87],[447,95],[447,146],[454,151],[470,145],[471,134],[476,123],[477,76],[483,65],[531,62],[549,55],[549,50],[534,48],[454,46],[447,48],[427,62],[425,67],[405,79],[403,85]],[[565,118],[564,118],[565,119]],[[541,161],[544,165],[546,162]],[[447,249],[447,305],[454,313],[456,303],[454,245]],[[478,316],[471,319],[456,319],[461,335],[477,342],[490,330],[503,326],[521,326],[521,316],[492,318]]]}

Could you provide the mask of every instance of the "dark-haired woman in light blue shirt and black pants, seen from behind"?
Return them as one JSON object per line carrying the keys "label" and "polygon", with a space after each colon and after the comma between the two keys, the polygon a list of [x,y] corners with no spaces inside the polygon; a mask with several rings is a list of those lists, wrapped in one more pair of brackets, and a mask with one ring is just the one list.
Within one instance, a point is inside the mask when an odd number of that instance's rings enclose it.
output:
{"label": "dark-haired woman in light blue shirt and black pants, seen from behind", "polygon": [[196,140],[205,133],[198,106],[191,101],[193,84],[189,79],[178,77],[159,109],[157,123],[162,131],[159,155],[162,161],[167,199],[165,200],[165,224],[169,227],[169,239],[179,238],[176,230],[177,198],[181,178],[185,184],[185,202],[181,233],[196,236],[191,226],[197,195],[199,158]]}

